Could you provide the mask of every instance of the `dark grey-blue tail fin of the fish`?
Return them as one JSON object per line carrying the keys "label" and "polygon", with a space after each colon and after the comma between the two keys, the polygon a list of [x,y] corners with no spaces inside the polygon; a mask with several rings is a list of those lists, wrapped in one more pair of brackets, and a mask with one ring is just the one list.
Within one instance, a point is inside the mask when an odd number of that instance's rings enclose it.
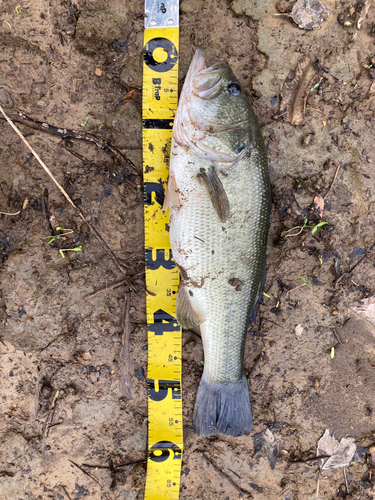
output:
{"label": "dark grey-blue tail fin of the fish", "polygon": [[221,433],[242,436],[253,426],[246,377],[230,384],[210,384],[202,377],[194,410],[194,431],[201,436]]}

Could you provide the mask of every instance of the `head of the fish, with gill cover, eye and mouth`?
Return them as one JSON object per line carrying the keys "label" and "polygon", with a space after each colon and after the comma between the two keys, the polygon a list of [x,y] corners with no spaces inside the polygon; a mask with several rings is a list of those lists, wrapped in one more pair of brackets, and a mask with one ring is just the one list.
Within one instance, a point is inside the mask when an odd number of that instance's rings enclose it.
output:
{"label": "head of the fish, with gill cover, eye and mouth", "polygon": [[174,138],[197,156],[232,162],[253,142],[255,117],[229,64],[207,67],[198,49],[186,76]]}

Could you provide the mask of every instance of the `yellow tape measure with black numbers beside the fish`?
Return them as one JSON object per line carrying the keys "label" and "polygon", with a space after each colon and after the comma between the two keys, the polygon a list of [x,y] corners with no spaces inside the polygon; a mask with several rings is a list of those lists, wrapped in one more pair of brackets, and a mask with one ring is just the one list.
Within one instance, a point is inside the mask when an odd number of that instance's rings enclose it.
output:
{"label": "yellow tape measure with black numbers beside the fish", "polygon": [[162,213],[178,90],[178,0],[146,0],[143,175],[148,325],[148,460],[145,500],[179,497],[183,449],[179,273]]}

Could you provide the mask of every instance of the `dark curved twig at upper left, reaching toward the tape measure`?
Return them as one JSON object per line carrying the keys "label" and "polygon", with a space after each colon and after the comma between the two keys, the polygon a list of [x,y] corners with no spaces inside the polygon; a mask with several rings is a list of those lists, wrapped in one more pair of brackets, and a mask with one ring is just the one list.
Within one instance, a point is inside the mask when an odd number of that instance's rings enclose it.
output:
{"label": "dark curved twig at upper left, reaching toward the tape measure", "polygon": [[[4,113],[3,113],[4,114]],[[5,116],[5,114],[4,114]],[[12,115],[12,119],[27,127],[33,128],[34,130],[39,130],[41,132],[47,132],[48,134],[57,135],[59,137],[70,137],[71,139],[78,139],[80,141],[92,142],[96,144],[99,148],[104,151],[109,151],[112,156],[123,163],[127,169],[132,173],[139,175],[134,164],[126,158],[121,151],[119,151],[115,146],[112,146],[109,142],[105,141],[100,137],[96,137],[93,134],[85,134],[82,132],[75,132],[74,130],[67,130],[65,128],[55,127],[49,125],[48,123],[38,122],[33,118],[30,118],[23,113],[18,113],[18,115]]]}

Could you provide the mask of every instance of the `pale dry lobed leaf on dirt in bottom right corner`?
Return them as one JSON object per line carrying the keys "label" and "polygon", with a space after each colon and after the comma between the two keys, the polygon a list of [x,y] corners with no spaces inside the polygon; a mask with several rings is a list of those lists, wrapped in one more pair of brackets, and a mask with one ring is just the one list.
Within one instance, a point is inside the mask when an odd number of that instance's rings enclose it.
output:
{"label": "pale dry lobed leaf on dirt in bottom right corner", "polygon": [[318,441],[316,455],[328,455],[329,458],[319,460],[321,470],[339,469],[350,464],[356,450],[354,438],[342,438],[341,441],[326,429]]}

